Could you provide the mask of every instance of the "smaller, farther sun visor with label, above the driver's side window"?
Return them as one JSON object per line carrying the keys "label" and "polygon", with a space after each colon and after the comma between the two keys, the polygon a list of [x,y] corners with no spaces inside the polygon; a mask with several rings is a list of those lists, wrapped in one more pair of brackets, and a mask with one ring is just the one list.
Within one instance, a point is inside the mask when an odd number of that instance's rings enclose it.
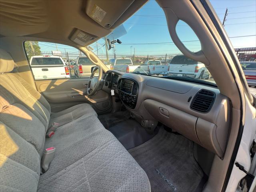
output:
{"label": "smaller, farther sun visor with label, above the driver's side window", "polygon": [[74,34],[71,36],[71,40],[78,45],[84,46],[85,44],[90,44],[90,42],[94,41],[97,36],[86,33],[80,29],[76,29]]}

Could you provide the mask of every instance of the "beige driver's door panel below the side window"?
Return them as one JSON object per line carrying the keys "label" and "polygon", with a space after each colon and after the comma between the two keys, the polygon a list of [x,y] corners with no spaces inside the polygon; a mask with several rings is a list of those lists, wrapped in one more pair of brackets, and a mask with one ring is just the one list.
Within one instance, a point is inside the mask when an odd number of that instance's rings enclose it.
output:
{"label": "beige driver's door panel below the side window", "polygon": [[91,104],[97,113],[110,108],[110,95],[103,90],[86,95],[89,78],[36,80],[37,90],[48,100],[52,112],[58,112],[80,103]]}

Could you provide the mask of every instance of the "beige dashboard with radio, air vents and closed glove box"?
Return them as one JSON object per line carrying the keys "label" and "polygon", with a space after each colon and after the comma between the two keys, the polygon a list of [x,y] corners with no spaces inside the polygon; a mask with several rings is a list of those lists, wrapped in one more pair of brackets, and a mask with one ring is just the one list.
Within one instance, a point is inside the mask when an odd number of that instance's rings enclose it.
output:
{"label": "beige dashboard with radio, air vents and closed glove box", "polygon": [[114,70],[108,71],[105,85],[145,129],[154,130],[161,122],[223,157],[231,107],[218,88]]}

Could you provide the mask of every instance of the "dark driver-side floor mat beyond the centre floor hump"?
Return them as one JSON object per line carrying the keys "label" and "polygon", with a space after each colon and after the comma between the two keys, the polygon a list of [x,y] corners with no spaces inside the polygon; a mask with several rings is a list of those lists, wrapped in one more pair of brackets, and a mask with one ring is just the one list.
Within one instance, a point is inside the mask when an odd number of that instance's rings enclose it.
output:
{"label": "dark driver-side floor mat beyond the centre floor hump", "polygon": [[130,112],[127,110],[98,115],[98,119],[106,129],[115,126],[122,121],[128,120],[129,118]]}

